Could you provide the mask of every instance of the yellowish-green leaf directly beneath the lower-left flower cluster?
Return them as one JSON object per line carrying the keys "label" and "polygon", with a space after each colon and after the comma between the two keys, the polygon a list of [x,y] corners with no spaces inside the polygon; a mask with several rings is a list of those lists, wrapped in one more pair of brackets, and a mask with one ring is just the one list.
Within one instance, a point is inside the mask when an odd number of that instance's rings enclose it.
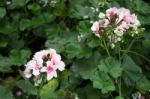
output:
{"label": "yellowish-green leaf directly beneath the lower-left flower cluster", "polygon": [[40,90],[40,99],[56,99],[56,88],[58,87],[58,81],[52,79],[48,84],[44,85]]}

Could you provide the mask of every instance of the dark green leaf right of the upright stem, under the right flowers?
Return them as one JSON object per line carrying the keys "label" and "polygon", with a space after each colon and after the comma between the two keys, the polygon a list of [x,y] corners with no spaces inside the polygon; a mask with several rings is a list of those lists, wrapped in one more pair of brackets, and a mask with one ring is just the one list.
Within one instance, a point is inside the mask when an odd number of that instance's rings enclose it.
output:
{"label": "dark green leaf right of the upright stem, under the right flowers", "polygon": [[141,78],[141,68],[129,56],[123,57],[124,82],[126,85],[135,85]]}

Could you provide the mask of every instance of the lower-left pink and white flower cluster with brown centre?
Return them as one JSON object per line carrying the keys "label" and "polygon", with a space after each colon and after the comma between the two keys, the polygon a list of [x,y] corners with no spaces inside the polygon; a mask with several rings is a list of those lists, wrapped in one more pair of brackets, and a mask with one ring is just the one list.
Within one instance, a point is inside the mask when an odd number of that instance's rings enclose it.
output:
{"label": "lower-left pink and white flower cluster with brown centre", "polygon": [[36,52],[25,67],[25,77],[30,78],[34,76],[37,78],[40,74],[46,73],[47,80],[50,80],[53,77],[57,77],[57,70],[63,71],[65,69],[65,64],[54,49],[48,49]]}

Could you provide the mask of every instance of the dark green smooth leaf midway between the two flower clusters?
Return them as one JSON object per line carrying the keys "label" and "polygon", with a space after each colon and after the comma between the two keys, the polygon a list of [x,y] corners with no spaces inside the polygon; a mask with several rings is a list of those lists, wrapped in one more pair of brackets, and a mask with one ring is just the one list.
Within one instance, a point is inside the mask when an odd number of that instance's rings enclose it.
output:
{"label": "dark green smooth leaf midway between the two flower clusters", "polygon": [[83,79],[89,79],[93,72],[97,69],[101,55],[95,52],[87,59],[77,60],[71,69],[82,76]]}

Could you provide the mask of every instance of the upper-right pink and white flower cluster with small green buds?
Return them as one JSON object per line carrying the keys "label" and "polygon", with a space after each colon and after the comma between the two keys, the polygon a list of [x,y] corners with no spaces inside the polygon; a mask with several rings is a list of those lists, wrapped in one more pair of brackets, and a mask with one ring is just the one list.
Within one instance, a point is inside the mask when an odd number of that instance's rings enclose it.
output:
{"label": "upper-right pink and white flower cluster with small green buds", "polygon": [[91,30],[97,37],[106,35],[108,40],[115,44],[122,40],[128,30],[134,31],[129,34],[132,37],[138,34],[139,26],[137,16],[131,14],[130,10],[113,7],[107,9],[106,13],[99,13],[99,20],[93,23]]}

